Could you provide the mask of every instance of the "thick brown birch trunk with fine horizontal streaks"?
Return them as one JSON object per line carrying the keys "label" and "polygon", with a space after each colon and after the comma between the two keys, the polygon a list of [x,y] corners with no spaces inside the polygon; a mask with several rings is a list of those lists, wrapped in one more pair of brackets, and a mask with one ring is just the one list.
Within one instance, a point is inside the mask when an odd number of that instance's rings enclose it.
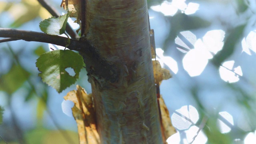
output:
{"label": "thick brown birch trunk with fine horizontal streaks", "polygon": [[146,0],[88,0],[84,37],[106,63],[84,57],[101,142],[162,144]]}

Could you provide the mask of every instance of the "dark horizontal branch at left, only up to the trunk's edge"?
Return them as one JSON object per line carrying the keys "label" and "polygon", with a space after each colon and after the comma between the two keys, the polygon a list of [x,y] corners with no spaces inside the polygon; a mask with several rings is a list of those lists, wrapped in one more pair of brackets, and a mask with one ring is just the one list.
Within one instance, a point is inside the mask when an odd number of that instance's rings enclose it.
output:
{"label": "dark horizontal branch at left, only up to the trunk's edge", "polygon": [[[33,32],[28,30],[17,30],[12,28],[0,28],[0,37],[12,38],[13,40],[25,40],[34,42],[45,42],[56,44],[58,46],[66,46],[68,38],[62,36],[54,36],[42,32]],[[5,42],[5,41],[2,41]],[[81,51],[89,44],[87,41],[82,42],[79,40],[70,39],[70,44],[67,46],[70,50]]]}

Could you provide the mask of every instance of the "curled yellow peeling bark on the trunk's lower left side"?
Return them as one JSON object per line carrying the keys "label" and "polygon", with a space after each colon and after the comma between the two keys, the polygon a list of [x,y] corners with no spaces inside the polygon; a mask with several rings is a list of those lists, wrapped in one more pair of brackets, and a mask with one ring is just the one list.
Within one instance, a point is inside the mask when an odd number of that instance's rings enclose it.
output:
{"label": "curled yellow peeling bark on the trunk's lower left side", "polygon": [[80,144],[100,144],[92,95],[87,94],[81,86],[77,85],[76,88],[68,92],[64,99],[75,104],[72,113],[77,123]]}

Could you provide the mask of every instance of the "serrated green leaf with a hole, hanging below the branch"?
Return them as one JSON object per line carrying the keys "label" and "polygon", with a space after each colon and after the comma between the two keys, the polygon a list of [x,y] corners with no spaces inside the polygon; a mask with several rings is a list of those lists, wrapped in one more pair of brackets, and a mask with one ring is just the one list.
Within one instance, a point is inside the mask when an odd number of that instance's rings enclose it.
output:
{"label": "serrated green leaf with a hole, hanging below the branch", "polygon": [[[53,50],[42,54],[36,61],[38,74],[42,81],[52,86],[59,93],[76,82],[84,64],[82,56],[71,50]],[[72,68],[74,76],[65,70]]]}

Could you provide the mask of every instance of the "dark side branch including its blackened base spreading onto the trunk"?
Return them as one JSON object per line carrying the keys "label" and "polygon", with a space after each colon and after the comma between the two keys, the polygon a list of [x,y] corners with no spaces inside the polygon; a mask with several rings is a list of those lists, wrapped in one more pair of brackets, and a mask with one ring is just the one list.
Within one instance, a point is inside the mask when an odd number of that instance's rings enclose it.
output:
{"label": "dark side branch including its blackened base spreading onto the trunk", "polygon": [[[54,36],[45,34],[42,32],[33,32],[28,30],[17,30],[12,28],[0,28],[0,37],[14,38],[15,40],[25,40],[34,42],[45,42],[55,44],[58,46],[66,46],[68,44],[68,38],[62,36]],[[90,44],[87,39],[74,40],[70,39],[69,46],[66,48],[70,50],[78,51],[87,62],[86,69],[89,71],[90,66],[94,66],[94,70],[90,70],[91,74],[102,76],[108,81],[116,82],[119,78],[119,72],[115,64],[111,64],[102,56],[99,52]],[[112,74],[110,73],[112,72]]]}

